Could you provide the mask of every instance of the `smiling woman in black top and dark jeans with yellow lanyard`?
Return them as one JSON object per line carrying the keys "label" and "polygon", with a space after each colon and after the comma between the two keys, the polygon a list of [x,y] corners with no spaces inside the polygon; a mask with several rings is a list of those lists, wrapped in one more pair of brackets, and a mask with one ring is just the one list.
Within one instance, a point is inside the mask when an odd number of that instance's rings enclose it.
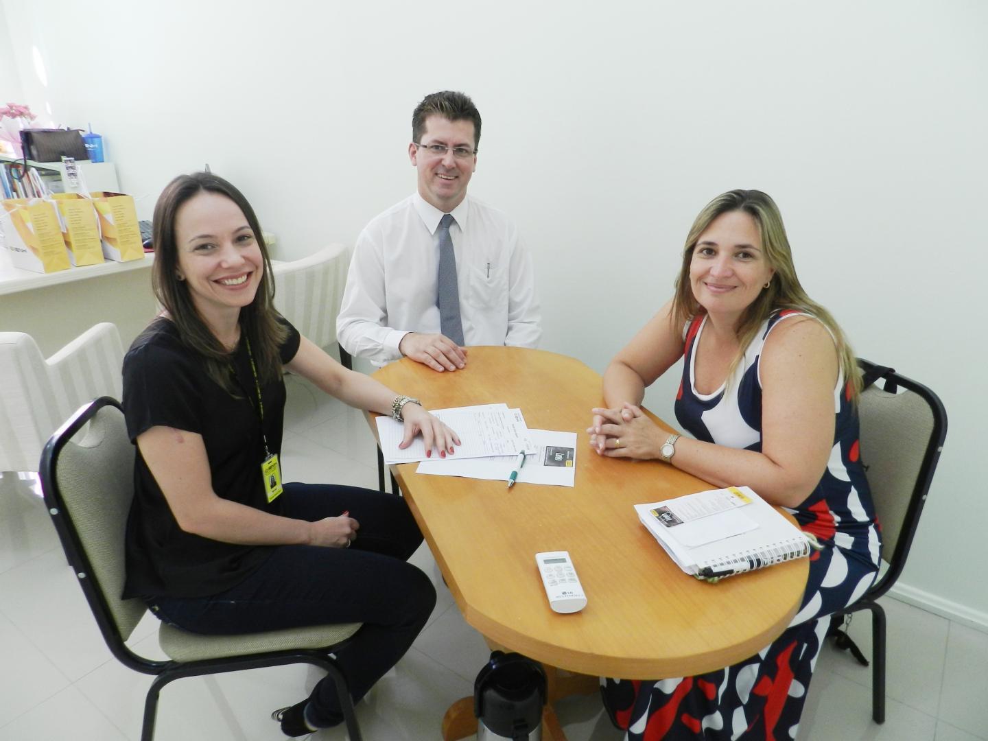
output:
{"label": "smiling woman in black top and dark jeans with yellow lanyard", "polygon": [[[272,306],[254,211],[226,181],[183,175],[154,210],[161,316],[124,358],[136,444],[124,597],[207,634],[363,622],[337,652],[354,700],[405,653],[436,602],[406,559],[422,542],[400,497],[282,484],[283,368],[405,424],[402,447],[453,453],[453,431],[407,397],[347,371]],[[289,736],[342,721],[329,679],[273,713]]]}

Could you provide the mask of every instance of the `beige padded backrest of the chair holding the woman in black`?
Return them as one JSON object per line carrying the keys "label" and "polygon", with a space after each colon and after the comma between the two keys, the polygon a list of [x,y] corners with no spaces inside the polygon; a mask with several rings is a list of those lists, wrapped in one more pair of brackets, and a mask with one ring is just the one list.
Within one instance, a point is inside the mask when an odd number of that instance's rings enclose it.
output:
{"label": "beige padded backrest of the chair holding the woman in black", "polygon": [[121,598],[133,461],[124,412],[104,396],[83,406],[51,436],[40,471],[44,503],[65,555],[104,639],[128,665],[133,654],[124,641],[147,610],[138,599]]}

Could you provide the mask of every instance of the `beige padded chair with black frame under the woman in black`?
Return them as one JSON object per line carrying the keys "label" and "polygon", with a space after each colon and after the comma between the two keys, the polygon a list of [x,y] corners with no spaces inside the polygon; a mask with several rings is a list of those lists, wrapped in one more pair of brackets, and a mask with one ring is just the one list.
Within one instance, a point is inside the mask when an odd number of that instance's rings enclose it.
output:
{"label": "beige padded chair with black frame under the woman in black", "polygon": [[[83,428],[81,439],[73,440]],[[110,650],[124,666],[154,675],[144,702],[141,740],[153,738],[158,696],[173,680],[308,663],[333,678],[347,731],[352,741],[360,741],[346,679],[331,653],[360,629],[359,622],[230,636],[198,635],[161,623],[158,641],[169,661],[144,658],[126,645],[147,610],[140,600],[120,596],[133,458],[120,404],[99,398],[76,412],[44,446],[41,487],[65,555]]]}

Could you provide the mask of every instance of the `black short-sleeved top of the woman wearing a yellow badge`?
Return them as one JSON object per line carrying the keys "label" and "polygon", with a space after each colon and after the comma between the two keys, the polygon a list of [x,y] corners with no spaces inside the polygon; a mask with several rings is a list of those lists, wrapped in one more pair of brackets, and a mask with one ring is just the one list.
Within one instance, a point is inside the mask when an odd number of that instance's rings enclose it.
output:
{"label": "black short-sleeved top of the woman wearing a yellow badge", "polygon": [[[299,335],[288,322],[281,348],[287,364]],[[281,514],[281,498],[268,503],[261,463],[265,458],[257,386],[241,339],[231,372],[239,397],[206,373],[204,359],[186,348],[178,329],[159,318],[124,357],[124,419],[131,442],[152,427],[174,427],[203,437],[217,496]],[[282,452],[285,381],[262,385],[264,434],[271,453]],[[124,598],[142,595],[205,597],[229,589],[257,569],[270,546],[239,545],[193,535],[179,528],[140,449],[134,462],[134,495],[126,527]]]}

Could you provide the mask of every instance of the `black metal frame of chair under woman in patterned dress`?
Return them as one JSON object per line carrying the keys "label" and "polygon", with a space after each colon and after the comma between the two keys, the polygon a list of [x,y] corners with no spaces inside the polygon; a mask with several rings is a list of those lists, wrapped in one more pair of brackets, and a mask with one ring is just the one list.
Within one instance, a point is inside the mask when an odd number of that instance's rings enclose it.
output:
{"label": "black metal frame of chair under woman in patterned dress", "polygon": [[[864,374],[865,388],[873,382],[883,381],[881,388],[889,393],[895,393],[901,386],[920,396],[930,407],[933,414],[934,424],[923,454],[923,461],[920,465],[919,475],[916,477],[916,484],[909,497],[909,506],[903,520],[902,530],[895,544],[895,549],[891,554],[883,554],[884,560],[888,563],[888,569],[872,584],[864,593],[864,596],[854,605],[849,605],[840,613],[831,617],[829,634],[836,635],[839,648],[852,648],[852,652],[859,656],[859,661],[867,664],[864,655],[854,646],[846,633],[840,631],[838,626],[845,617],[851,616],[863,610],[871,613],[871,717],[876,723],[885,722],[885,611],[878,604],[878,599],[882,597],[895,584],[895,581],[902,573],[906,564],[906,556],[916,535],[919,525],[920,515],[923,514],[923,506],[926,504],[927,494],[930,491],[930,484],[933,481],[933,474],[937,470],[937,463],[940,454],[944,449],[944,441],[947,438],[947,410],[943,402],[927,386],[911,378],[907,378],[895,372],[893,369],[878,366],[862,358],[858,359],[858,365]],[[867,451],[864,450],[866,457]],[[867,461],[864,461],[865,471]],[[866,474],[865,474],[866,475]],[[880,517],[880,516],[879,516]],[[880,522],[880,520],[879,520]]]}

